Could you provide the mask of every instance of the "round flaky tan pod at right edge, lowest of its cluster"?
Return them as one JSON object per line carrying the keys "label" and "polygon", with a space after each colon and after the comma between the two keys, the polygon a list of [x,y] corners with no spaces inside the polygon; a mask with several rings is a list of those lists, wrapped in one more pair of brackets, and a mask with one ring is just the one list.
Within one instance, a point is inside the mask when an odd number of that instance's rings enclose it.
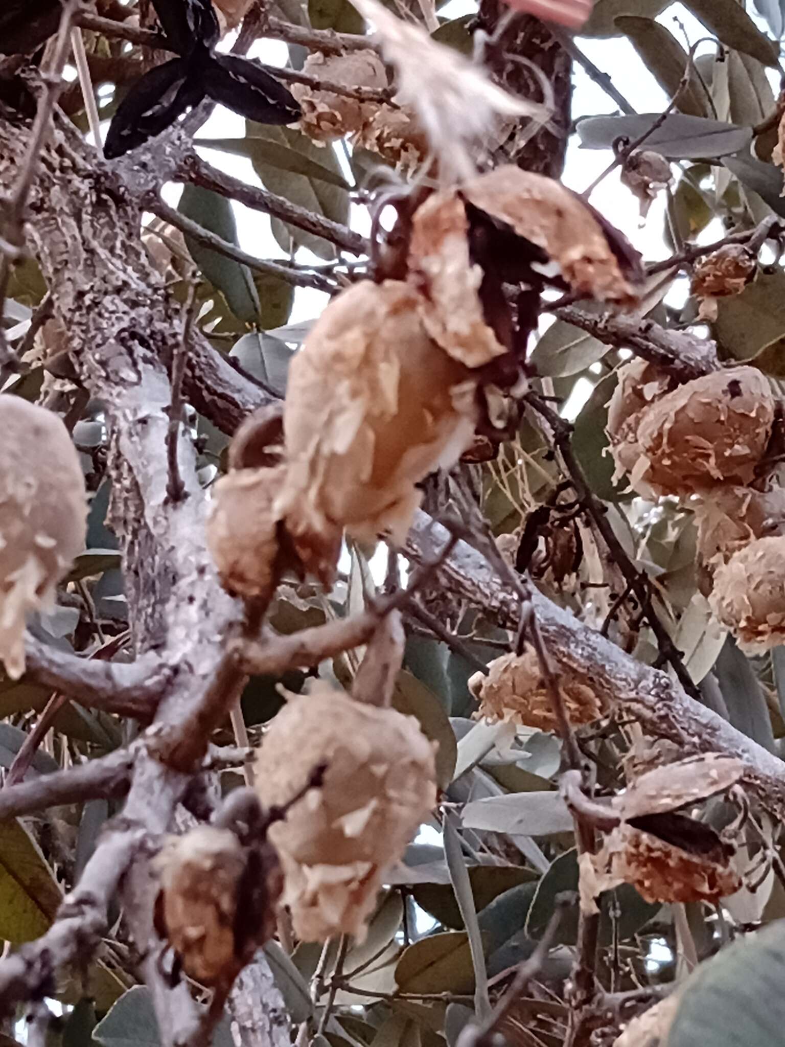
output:
{"label": "round flaky tan pod at right edge, lowest of its cluster", "polygon": [[760,653],[785,642],[785,537],[758,538],[714,575],[709,603],[739,647]]}

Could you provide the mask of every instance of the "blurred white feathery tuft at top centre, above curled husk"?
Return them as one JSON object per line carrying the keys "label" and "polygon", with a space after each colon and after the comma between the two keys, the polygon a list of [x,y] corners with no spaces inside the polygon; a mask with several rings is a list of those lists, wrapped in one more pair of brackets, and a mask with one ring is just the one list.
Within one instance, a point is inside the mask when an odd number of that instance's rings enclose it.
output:
{"label": "blurred white feathery tuft at top centre, above curled husk", "polygon": [[515,98],[458,51],[404,22],[378,0],[353,0],[369,22],[384,58],[396,69],[397,101],[411,109],[430,143],[440,178],[450,184],[477,173],[475,150],[499,115],[530,116],[533,131],[548,110]]}

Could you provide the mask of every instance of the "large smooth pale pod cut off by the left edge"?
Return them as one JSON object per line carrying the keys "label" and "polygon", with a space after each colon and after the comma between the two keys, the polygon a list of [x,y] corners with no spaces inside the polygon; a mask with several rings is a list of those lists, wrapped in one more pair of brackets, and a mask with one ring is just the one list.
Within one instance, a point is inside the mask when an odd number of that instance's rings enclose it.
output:
{"label": "large smooth pale pod cut off by the left edge", "polygon": [[27,612],[47,606],[85,548],[87,496],[78,454],[62,420],[0,395],[0,661],[24,672]]}

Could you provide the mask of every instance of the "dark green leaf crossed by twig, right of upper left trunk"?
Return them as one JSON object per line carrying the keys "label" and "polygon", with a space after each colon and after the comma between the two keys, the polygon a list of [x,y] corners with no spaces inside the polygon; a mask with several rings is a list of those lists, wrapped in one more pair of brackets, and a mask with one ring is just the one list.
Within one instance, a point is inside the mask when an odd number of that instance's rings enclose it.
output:
{"label": "dark green leaf crossed by twig, right of upper left trunk", "polygon": [[[177,209],[203,229],[238,245],[234,211],[226,197],[201,185],[187,184],[183,186]],[[253,322],[259,316],[259,297],[248,266],[204,247],[188,236],[185,237],[185,246],[201,272],[223,292],[232,313],[246,324]]]}

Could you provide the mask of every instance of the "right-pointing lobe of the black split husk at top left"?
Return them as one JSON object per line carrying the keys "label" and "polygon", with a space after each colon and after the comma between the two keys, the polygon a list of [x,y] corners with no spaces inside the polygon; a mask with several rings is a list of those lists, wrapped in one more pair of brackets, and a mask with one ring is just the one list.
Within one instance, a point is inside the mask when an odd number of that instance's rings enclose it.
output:
{"label": "right-pointing lobe of the black split husk at top left", "polygon": [[204,88],[215,102],[257,124],[293,124],[300,109],[291,92],[248,59],[215,54],[202,70]]}

